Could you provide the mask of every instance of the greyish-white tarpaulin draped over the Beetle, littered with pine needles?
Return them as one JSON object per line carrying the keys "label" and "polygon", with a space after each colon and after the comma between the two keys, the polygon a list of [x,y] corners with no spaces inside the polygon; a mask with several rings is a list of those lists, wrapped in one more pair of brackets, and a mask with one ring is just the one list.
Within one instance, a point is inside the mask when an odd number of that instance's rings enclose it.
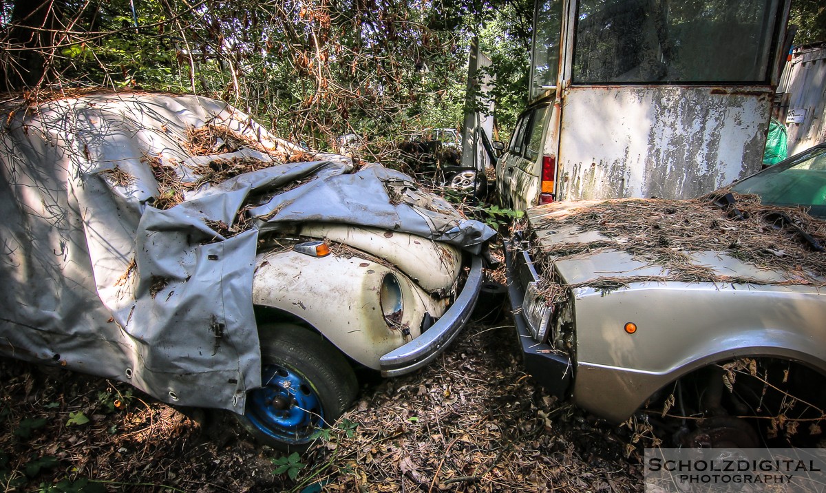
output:
{"label": "greyish-white tarpaulin draped over the Beetle, littered with pine needles", "polygon": [[[369,225],[472,251],[494,234],[403,173],[306,154],[204,97],[88,95],[7,107],[2,120],[0,353],[161,401],[242,412],[260,385],[259,232]],[[192,130],[210,126],[254,145],[193,155]]]}

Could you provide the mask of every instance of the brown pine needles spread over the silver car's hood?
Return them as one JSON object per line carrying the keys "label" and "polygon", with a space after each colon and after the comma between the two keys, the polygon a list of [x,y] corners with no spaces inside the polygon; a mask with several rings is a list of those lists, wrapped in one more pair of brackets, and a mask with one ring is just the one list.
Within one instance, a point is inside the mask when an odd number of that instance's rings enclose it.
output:
{"label": "brown pine needles spread over the silver car's hood", "polygon": [[[645,281],[826,286],[826,254],[805,238],[808,235],[826,245],[826,222],[814,219],[801,208],[764,206],[754,195],[733,194],[733,206],[715,204],[727,192],[694,200],[619,199],[582,207],[535,227],[553,230],[576,225],[583,231],[598,231],[605,238],[586,244],[538,246],[540,252],[534,258],[545,262],[546,277],[551,277],[551,264],[559,259],[609,250],[624,251],[639,261],[664,268],[662,277],[601,277],[586,284],[592,287],[615,288]],[[729,255],[781,273],[786,281],[721,275],[691,258],[691,254],[700,252]]]}

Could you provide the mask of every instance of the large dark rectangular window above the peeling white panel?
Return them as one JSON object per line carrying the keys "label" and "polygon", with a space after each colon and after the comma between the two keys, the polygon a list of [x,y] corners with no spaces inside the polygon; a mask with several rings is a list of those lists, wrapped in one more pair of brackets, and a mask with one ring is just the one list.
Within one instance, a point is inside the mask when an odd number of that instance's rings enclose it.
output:
{"label": "large dark rectangular window above the peeling white panel", "polygon": [[777,0],[582,0],[573,83],[762,83]]}

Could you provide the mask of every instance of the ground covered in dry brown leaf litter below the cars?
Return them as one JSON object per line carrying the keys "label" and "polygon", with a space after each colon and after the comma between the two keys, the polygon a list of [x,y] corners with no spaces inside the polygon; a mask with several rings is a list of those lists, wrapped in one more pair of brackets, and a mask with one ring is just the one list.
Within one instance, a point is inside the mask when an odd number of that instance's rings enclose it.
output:
{"label": "ground covered in dry brown leaf litter below the cars", "polygon": [[642,491],[640,437],[545,395],[520,369],[510,315],[498,301],[484,308],[504,318],[474,320],[430,367],[390,380],[365,372],[353,408],[294,480],[228,413],[2,359],[0,488]]}

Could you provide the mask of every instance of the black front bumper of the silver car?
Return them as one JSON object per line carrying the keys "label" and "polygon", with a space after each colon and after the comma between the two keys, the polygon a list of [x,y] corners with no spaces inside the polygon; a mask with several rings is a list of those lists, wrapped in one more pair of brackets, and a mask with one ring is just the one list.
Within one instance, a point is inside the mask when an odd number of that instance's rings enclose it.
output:
{"label": "black front bumper of the silver car", "polygon": [[525,318],[522,316],[522,300],[525,298],[523,282],[527,279],[538,281],[529,255],[521,252],[515,259],[510,244],[505,244],[505,262],[508,277],[508,297],[514,313],[516,336],[522,348],[525,371],[530,374],[548,393],[565,397],[573,380],[573,365],[567,355],[554,352],[548,344],[536,342],[531,337]]}

